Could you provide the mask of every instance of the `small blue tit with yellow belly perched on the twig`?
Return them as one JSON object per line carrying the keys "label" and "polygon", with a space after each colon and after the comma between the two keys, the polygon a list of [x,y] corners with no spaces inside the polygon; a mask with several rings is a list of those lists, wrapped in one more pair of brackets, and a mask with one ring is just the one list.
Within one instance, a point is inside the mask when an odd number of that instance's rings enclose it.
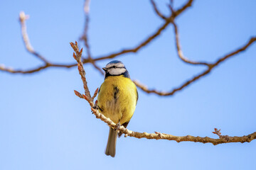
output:
{"label": "small blue tit with yellow belly perched on the twig", "polygon": [[[97,97],[98,111],[117,125],[127,128],[138,101],[137,87],[122,62],[114,60],[102,69],[105,71],[105,80]],[[118,135],[120,137],[122,133]],[[110,128],[105,154],[114,157],[116,143],[117,130]]]}

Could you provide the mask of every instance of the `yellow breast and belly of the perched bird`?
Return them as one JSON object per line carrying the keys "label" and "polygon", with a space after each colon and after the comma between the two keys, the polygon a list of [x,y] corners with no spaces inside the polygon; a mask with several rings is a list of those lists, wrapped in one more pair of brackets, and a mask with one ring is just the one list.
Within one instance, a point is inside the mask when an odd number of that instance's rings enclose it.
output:
{"label": "yellow breast and belly of the perched bird", "polygon": [[122,75],[107,77],[97,98],[100,113],[114,123],[129,122],[137,104],[137,88]]}

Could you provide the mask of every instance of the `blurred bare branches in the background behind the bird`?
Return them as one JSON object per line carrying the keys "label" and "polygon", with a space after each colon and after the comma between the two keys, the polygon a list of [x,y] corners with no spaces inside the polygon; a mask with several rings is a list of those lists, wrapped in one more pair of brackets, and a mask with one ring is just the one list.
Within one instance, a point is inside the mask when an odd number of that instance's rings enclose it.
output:
{"label": "blurred bare branches in the background behind the bird", "polygon": [[[114,52],[111,55],[105,55],[103,57],[96,57],[95,59],[92,59],[91,54],[90,54],[90,45],[87,42],[87,29],[88,29],[88,23],[89,23],[89,2],[90,2],[89,0],[85,0],[85,6],[84,6],[86,20],[85,20],[85,32],[84,32],[82,38],[85,41],[85,47],[86,47],[86,50],[87,50],[87,56],[88,57],[82,60],[83,64],[92,63],[95,66],[96,69],[98,69],[100,72],[102,72],[102,70],[99,67],[97,67],[97,65],[95,64],[96,61],[114,58],[114,57],[124,55],[124,54],[129,53],[129,52],[137,52],[142,47],[148,45],[149,42],[151,42],[152,40],[154,40],[154,38],[156,38],[158,35],[161,34],[162,30],[164,30],[170,23],[172,23],[174,25],[174,31],[176,33],[176,49],[177,49],[177,52],[178,52],[178,57],[180,57],[181,60],[183,60],[184,62],[189,63],[189,64],[199,64],[199,65],[202,64],[202,65],[208,66],[208,69],[206,69],[206,71],[192,77],[191,79],[188,79],[185,83],[181,84],[181,86],[179,86],[179,87],[177,87],[177,88],[175,88],[175,89],[173,89],[169,92],[157,91],[155,89],[148,89],[148,88],[146,88],[146,86],[140,84],[138,81],[134,81],[135,84],[137,84],[137,86],[139,86],[139,88],[141,88],[143,91],[146,91],[147,93],[154,93],[154,94],[158,94],[160,96],[171,96],[171,95],[175,94],[176,91],[180,91],[181,89],[185,88],[186,86],[188,86],[192,82],[200,79],[201,77],[206,76],[206,74],[208,74],[211,71],[211,69],[213,69],[213,67],[220,64],[220,62],[223,62],[226,59],[228,59],[229,57],[232,57],[233,55],[238,54],[239,52],[242,52],[243,50],[246,50],[247,47],[249,47],[253,42],[255,42],[255,37],[251,38],[250,41],[245,46],[239,48],[238,50],[235,50],[234,52],[230,52],[230,54],[225,55],[224,57],[221,57],[219,60],[217,60],[213,64],[210,64],[210,63],[207,63],[207,62],[193,62],[193,61],[188,60],[186,57],[183,56],[183,52],[181,50],[181,45],[180,45],[180,42],[179,42],[178,28],[176,26],[176,23],[174,23],[174,19],[176,18],[176,16],[178,16],[183,11],[185,11],[186,8],[191,6],[193,0],[189,0],[189,1],[186,2],[186,4],[181,6],[181,8],[178,8],[178,10],[176,10],[176,11],[174,11],[174,9],[170,5],[171,12],[172,12],[171,16],[169,16],[169,18],[165,17],[165,23],[158,30],[156,30],[155,33],[153,33],[151,36],[146,38],[146,40],[141,42],[136,47],[126,49],[126,50],[121,50],[119,52]],[[161,13],[156,8],[156,4],[154,3],[153,0],[151,0],[151,4],[153,5],[156,14],[161,16]],[[26,49],[29,52],[31,52],[32,54],[36,55],[39,59],[41,59],[45,63],[43,65],[39,66],[39,67],[36,67],[36,68],[33,68],[33,69],[28,69],[28,70],[11,69],[9,67],[5,67],[4,65],[1,65],[0,66],[1,71],[9,72],[9,73],[12,73],[12,74],[16,74],[16,73],[31,74],[31,73],[34,73],[34,72],[40,72],[41,70],[48,69],[50,67],[71,68],[71,67],[75,67],[75,65],[77,65],[75,63],[73,63],[73,64],[53,64],[53,63],[49,63],[49,62],[47,62],[47,60],[45,60],[43,57],[41,57],[41,55],[38,55],[37,52],[34,52],[33,47],[31,46],[31,44],[28,40],[28,35],[26,33],[26,22],[25,21],[26,21],[27,18],[28,17],[25,15],[25,13],[20,14],[21,30],[22,30],[22,34],[23,34],[23,41],[26,45]]]}

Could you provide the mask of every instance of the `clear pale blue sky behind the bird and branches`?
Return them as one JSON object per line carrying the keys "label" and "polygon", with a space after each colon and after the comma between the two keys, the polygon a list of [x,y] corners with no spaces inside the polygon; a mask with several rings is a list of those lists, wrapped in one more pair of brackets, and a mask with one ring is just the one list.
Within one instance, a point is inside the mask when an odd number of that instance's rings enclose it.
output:
{"label": "clear pale blue sky behind the bird and branches", "polygon": [[[157,1],[169,14],[168,1]],[[184,1],[174,1],[176,7]],[[52,62],[70,63],[69,42],[84,26],[83,1],[0,1],[0,63],[16,69],[41,64],[21,40],[18,13],[30,15],[28,35],[34,49]],[[256,34],[256,1],[197,0],[177,18],[184,55],[214,62],[245,45]],[[134,47],[161,26],[149,1],[92,1],[89,38],[93,57]],[[80,46],[82,46],[80,42]],[[132,79],[169,91],[204,67],[183,63],[176,55],[174,28],[137,54],[118,57]],[[104,67],[107,62],[97,62]],[[213,69],[174,96],[139,90],[128,128],[137,132],[218,137],[248,135],[256,130],[256,44]],[[85,65],[90,91],[103,77]],[[76,67],[50,68],[36,74],[0,72],[0,169],[251,169],[256,140],[214,146],[194,142],[121,137],[116,157],[107,157],[109,128],[90,113]]]}

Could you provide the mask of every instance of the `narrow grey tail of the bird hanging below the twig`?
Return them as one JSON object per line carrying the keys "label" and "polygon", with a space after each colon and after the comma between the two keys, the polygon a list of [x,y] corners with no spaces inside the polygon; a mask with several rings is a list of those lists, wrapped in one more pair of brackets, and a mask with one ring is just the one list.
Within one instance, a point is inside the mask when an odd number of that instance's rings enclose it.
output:
{"label": "narrow grey tail of the bird hanging below the twig", "polygon": [[107,148],[105,154],[114,157],[115,155],[115,148],[117,144],[117,130],[110,128],[109,138],[107,140]]}

